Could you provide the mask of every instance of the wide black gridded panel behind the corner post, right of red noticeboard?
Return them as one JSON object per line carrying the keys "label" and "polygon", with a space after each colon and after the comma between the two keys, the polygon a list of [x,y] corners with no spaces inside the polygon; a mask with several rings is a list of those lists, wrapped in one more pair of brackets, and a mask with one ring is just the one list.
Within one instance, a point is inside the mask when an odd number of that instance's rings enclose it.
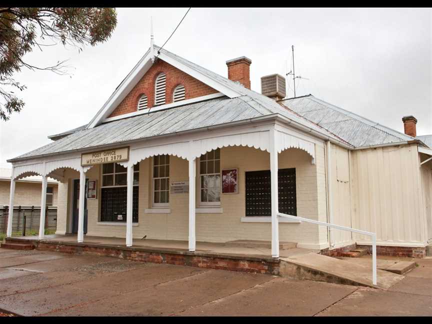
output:
{"label": "wide black gridded panel behind the corner post, right of red noticeboard", "polygon": [[[271,216],[270,170],[245,172],[246,216]],[[297,215],[295,168],[277,173],[279,212]]]}

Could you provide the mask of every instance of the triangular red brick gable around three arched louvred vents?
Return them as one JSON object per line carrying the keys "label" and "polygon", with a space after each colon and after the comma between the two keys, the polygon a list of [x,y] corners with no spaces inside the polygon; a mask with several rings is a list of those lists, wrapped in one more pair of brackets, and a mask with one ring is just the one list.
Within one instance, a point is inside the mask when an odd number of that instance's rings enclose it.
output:
{"label": "triangular red brick gable around three arched louvred vents", "polygon": [[166,75],[165,103],[172,102],[172,93],[178,84],[184,85],[185,99],[218,92],[189,74],[158,59],[108,117],[136,111],[138,100],[142,94],[147,96],[147,107],[154,106],[154,81],[160,72],[164,72]]}

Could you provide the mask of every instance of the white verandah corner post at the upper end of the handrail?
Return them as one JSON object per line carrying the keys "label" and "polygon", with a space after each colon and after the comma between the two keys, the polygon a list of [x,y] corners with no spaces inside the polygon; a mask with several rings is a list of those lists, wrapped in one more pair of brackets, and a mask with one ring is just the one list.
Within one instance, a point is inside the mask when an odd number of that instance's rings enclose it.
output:
{"label": "white verandah corner post at the upper end of the handrail", "polygon": [[279,257],[279,220],[277,213],[278,190],[277,190],[277,145],[276,129],[270,129],[270,181],[271,181],[271,256]]}

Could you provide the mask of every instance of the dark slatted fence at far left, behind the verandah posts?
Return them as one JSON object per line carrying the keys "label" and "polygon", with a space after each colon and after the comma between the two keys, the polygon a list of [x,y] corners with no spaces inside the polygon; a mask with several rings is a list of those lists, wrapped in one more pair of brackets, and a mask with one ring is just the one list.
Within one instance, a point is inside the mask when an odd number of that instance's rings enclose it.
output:
{"label": "dark slatted fence at far left, behind the verandah posts", "polygon": [[[0,233],[6,233],[8,206],[0,205]],[[39,232],[40,207],[14,206],[12,218],[12,235],[35,234]],[[45,208],[45,229],[57,228],[57,207]]]}

